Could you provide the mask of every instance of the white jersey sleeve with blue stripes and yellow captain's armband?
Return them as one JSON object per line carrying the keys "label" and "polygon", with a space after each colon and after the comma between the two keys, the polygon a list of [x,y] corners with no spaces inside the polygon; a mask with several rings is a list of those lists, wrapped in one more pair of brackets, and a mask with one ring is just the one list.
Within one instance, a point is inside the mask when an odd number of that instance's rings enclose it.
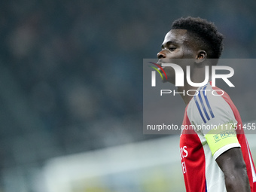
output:
{"label": "white jersey sleeve with blue stripes and yellow captain's armband", "polygon": [[187,107],[187,116],[197,133],[206,138],[215,159],[230,148],[240,147],[233,111],[210,85],[198,90]]}

